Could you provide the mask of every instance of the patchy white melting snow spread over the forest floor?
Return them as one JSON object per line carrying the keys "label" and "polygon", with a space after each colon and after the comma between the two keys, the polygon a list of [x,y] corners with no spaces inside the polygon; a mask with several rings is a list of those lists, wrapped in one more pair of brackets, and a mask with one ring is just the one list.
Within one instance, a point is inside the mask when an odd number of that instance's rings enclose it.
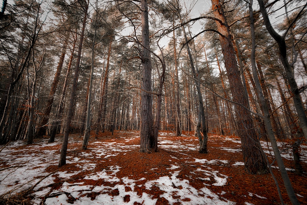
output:
{"label": "patchy white melting snow spread over the forest floor", "polygon": [[[227,160],[207,160],[207,159],[198,159],[191,157],[188,154],[183,152],[193,151],[197,152],[198,142],[197,139],[192,137],[187,137],[185,144],[182,144],[180,140],[171,141],[168,140],[170,133],[161,133],[159,138],[159,148],[165,150],[181,153],[185,158],[184,160],[187,164],[199,163],[199,166],[195,167],[195,170],[191,174],[199,175],[199,179],[203,180],[203,187],[196,189],[191,183],[191,179],[179,179],[177,178],[178,174],[181,171],[181,165],[177,162],[170,162],[170,166],[166,168],[169,172],[168,175],[158,177],[154,180],[147,180],[146,178],[141,179],[132,179],[132,177],[125,176],[118,178],[117,173],[121,170],[122,167],[118,165],[108,166],[106,169],[101,171],[93,171],[99,163],[104,163],[111,161],[111,157],[118,155],[126,155],[132,150],[135,150],[139,147],[137,144],[124,144],[117,143],[116,139],[114,142],[101,142],[97,141],[92,144],[95,144],[95,149],[91,149],[91,152],[80,152],[78,156],[68,156],[67,164],[74,164],[76,171],[56,171],[51,174],[46,179],[42,180],[35,188],[34,195],[35,199],[33,202],[40,204],[43,200],[43,197],[46,195],[56,197],[49,197],[45,199],[45,204],[70,204],[68,203],[69,197],[73,197],[75,200],[74,204],[156,204],[157,198],[153,198],[153,195],[148,194],[148,192],[143,192],[141,195],[135,191],[137,186],[143,186],[146,190],[151,190],[159,188],[163,191],[163,194],[160,197],[164,197],[168,200],[169,204],[180,203],[180,204],[235,204],[228,199],[223,198],[223,186],[227,183],[228,176],[220,174],[219,171],[214,170],[210,167],[212,164],[229,164],[232,166],[243,166],[243,163],[240,161],[227,161]],[[125,137],[124,142],[129,143],[131,140],[135,140],[138,136],[134,137]],[[225,138],[225,140],[231,140],[237,144],[237,147],[223,147],[223,149],[229,153],[240,152],[240,141],[234,140],[231,138]],[[69,144],[79,143],[70,139]],[[61,142],[46,143],[46,140],[33,145],[25,146],[25,142],[17,141],[11,142],[0,152],[0,195],[9,192],[19,192],[25,188],[32,187],[44,176],[50,174],[47,172],[47,168],[52,165],[57,165],[60,157],[60,146]],[[270,150],[270,147],[265,142],[262,142],[262,147],[264,148],[265,153],[273,154],[273,151]],[[284,147],[284,144],[279,144],[280,147]],[[3,146],[2,146],[3,147]],[[0,149],[2,148],[0,147]],[[80,147],[80,146],[79,146]],[[68,151],[74,151],[76,148]],[[307,152],[302,152],[302,160],[307,163]],[[292,155],[285,151],[282,153],[282,156],[286,159],[292,159]],[[91,158],[93,160],[86,160]],[[172,156],[171,158],[176,161],[177,156]],[[195,165],[191,165],[195,166]],[[151,168],[152,171],[155,171],[158,168]],[[92,171],[92,172],[91,172]],[[56,182],[56,177],[67,180],[74,175],[80,175],[84,173],[84,180],[104,180],[104,182],[109,182],[110,186],[105,185],[90,185],[85,183],[83,180],[74,183],[64,182],[61,186],[52,190],[52,187],[48,185]],[[133,174],[133,173],[132,173]],[[131,175],[132,176],[132,175]],[[213,181],[214,180],[214,181]],[[206,183],[210,181],[211,183]],[[141,185],[140,185],[141,183]],[[213,193],[210,188],[212,186],[221,187],[220,193]],[[130,187],[127,189],[127,187]],[[118,190],[117,195],[109,195],[111,191]],[[97,195],[94,199],[90,198],[87,194],[91,192],[97,192]],[[256,197],[263,197],[255,193],[249,192],[250,195]],[[129,196],[129,200],[125,200],[125,197]],[[204,197],[205,196],[205,197]],[[186,200],[189,199],[189,200]],[[251,203],[245,203],[251,204]]]}

